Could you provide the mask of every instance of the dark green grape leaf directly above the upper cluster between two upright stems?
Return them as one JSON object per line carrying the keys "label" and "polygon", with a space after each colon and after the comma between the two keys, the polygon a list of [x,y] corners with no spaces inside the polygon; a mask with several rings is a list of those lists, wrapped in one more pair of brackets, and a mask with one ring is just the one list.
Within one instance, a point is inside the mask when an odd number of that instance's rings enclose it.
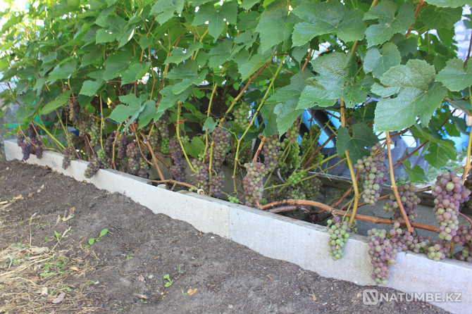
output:
{"label": "dark green grape leaf directly above the upper cluster between two upright stems", "polygon": [[349,135],[347,127],[340,127],[337,130],[336,149],[339,156],[344,156],[349,150],[349,158],[355,163],[370,153],[367,146],[378,143],[378,137],[371,127],[366,123],[356,123],[352,125],[352,137]]}

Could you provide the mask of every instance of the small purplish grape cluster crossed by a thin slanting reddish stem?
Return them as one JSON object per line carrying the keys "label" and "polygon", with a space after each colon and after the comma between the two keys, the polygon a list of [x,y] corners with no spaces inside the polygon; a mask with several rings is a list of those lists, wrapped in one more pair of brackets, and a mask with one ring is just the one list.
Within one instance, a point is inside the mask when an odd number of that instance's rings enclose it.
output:
{"label": "small purplish grape cluster crossed by a thin slanting reddish stem", "polygon": [[[416,207],[418,206],[418,203],[420,203],[421,199],[416,196],[416,190],[416,187],[411,183],[405,183],[398,187],[400,199],[402,200],[406,215],[410,221],[413,221],[418,217],[418,214],[416,213]],[[402,211],[400,211],[395,195],[390,195],[390,199],[383,206],[383,210],[387,213],[391,213],[393,211],[393,219],[404,222]]]}

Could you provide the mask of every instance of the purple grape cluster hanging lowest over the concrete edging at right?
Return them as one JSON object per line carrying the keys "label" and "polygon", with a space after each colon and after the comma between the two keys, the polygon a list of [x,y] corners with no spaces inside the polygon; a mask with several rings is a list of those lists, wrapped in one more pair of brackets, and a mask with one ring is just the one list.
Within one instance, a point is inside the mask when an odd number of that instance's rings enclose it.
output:
{"label": "purple grape cluster hanging lowest over the concrete edging at right", "polygon": [[402,230],[398,228],[399,224],[395,223],[395,227],[387,233],[381,229],[368,230],[368,254],[371,256],[373,264],[372,279],[379,284],[387,282],[389,267],[395,264],[397,253],[402,251],[402,241],[399,239]]}

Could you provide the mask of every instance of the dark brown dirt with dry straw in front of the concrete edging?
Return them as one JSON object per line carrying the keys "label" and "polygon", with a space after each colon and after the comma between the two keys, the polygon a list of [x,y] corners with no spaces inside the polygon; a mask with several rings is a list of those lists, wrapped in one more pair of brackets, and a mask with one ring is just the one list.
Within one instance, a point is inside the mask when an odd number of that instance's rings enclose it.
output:
{"label": "dark brown dirt with dry straw in front of the concrete edging", "polygon": [[[68,289],[56,290],[49,299],[27,291],[30,296],[10,300],[18,310],[8,313],[445,313],[421,302],[365,306],[362,291],[372,287],[266,258],[48,168],[0,162],[0,201],[18,195],[23,199],[0,210],[0,250],[13,243],[48,246],[75,266],[63,273]],[[72,207],[74,217],[57,222]],[[69,227],[58,244],[55,232],[63,234]],[[86,249],[105,228],[108,233]],[[73,274],[77,268],[80,276]],[[44,266],[23,275],[44,286],[40,272]],[[169,287],[164,287],[166,274],[173,280]],[[8,289],[0,293],[0,312],[7,298],[20,293],[18,287]],[[65,299],[52,303],[60,291]],[[35,310],[22,302],[42,307]]]}

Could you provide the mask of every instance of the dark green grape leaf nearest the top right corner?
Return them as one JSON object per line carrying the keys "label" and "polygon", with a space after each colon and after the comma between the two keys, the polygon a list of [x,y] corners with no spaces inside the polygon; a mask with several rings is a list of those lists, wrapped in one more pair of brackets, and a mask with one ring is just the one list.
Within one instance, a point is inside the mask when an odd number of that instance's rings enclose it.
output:
{"label": "dark green grape leaf nearest the top right corner", "polygon": [[426,27],[438,30],[440,28],[454,28],[454,24],[461,19],[461,16],[462,8],[425,6],[418,18]]}

